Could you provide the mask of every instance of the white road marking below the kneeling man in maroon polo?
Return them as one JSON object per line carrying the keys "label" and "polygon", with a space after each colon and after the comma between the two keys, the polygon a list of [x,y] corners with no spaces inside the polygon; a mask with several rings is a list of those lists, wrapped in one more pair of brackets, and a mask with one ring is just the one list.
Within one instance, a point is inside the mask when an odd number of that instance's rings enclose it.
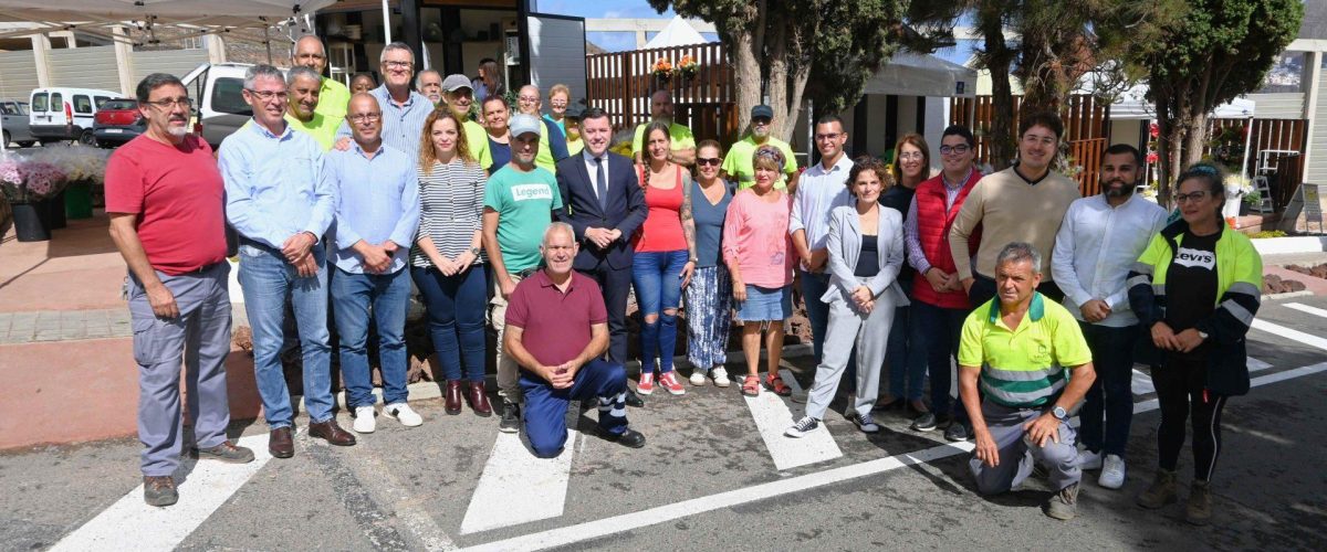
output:
{"label": "white road marking below the kneeling man in maroon polo", "polygon": [[519,434],[499,433],[460,522],[460,533],[561,516],[579,436],[576,430],[567,433],[567,447],[557,458],[539,458]]}

